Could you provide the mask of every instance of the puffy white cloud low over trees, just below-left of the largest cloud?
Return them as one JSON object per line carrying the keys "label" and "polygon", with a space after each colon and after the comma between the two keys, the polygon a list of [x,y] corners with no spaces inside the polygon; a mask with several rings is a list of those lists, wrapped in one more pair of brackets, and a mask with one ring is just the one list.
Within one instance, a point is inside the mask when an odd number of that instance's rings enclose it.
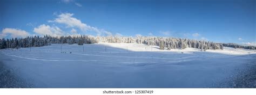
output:
{"label": "puffy white cloud low over trees, just below-left of the largest cloud", "polygon": [[35,27],[33,31],[39,35],[46,35],[46,34],[52,35],[52,36],[64,35],[63,31],[60,30],[59,27],[57,27],[57,26],[51,27],[51,26],[45,25],[45,24]]}

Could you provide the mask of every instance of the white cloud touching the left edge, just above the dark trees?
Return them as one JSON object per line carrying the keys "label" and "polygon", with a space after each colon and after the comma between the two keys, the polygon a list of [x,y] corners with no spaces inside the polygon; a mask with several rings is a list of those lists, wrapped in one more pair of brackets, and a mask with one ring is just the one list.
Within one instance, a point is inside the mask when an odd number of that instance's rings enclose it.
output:
{"label": "white cloud touching the left edge, just above the dark trees", "polygon": [[26,32],[24,30],[19,30],[16,28],[4,28],[2,30],[2,33],[0,34],[1,35],[0,38],[4,38],[8,34],[10,34],[12,38],[16,38],[16,37],[25,38],[26,36],[30,35],[28,32]]}

